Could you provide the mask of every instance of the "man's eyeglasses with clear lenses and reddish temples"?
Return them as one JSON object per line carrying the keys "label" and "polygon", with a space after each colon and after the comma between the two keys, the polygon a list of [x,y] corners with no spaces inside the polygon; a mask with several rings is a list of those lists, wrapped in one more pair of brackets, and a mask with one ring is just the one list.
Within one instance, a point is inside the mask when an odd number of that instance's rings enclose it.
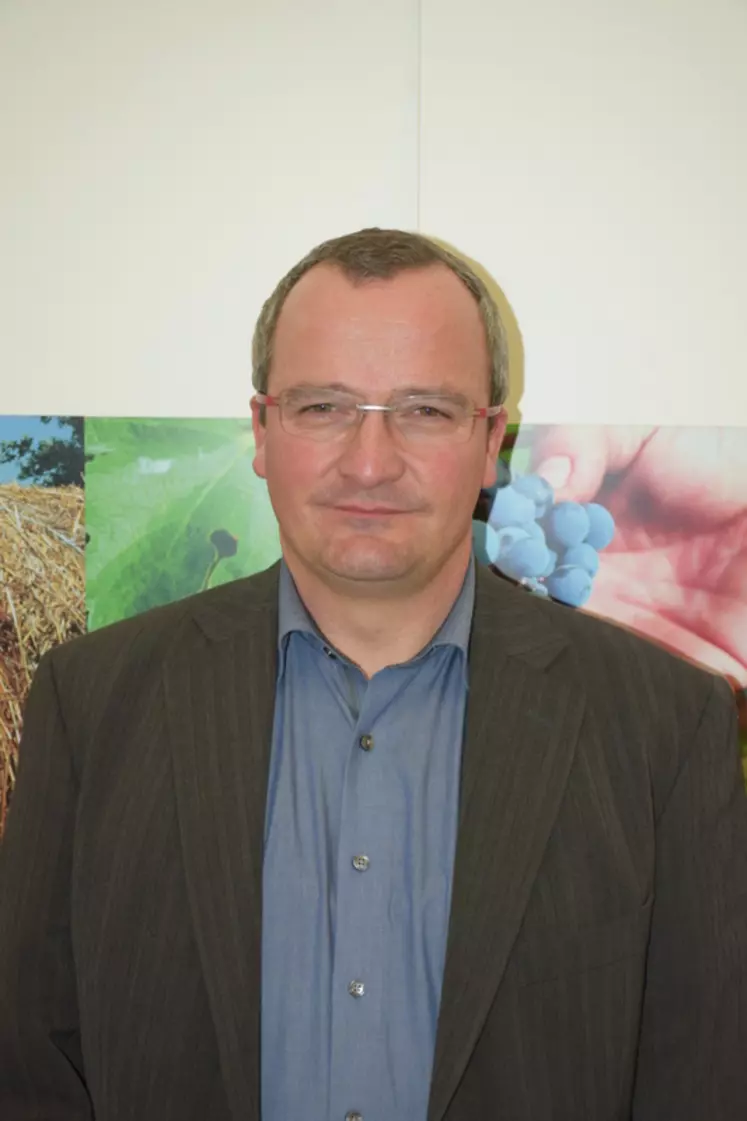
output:
{"label": "man's eyeglasses with clear lenses and reddish temples", "polygon": [[329,442],[351,436],[366,413],[384,413],[407,443],[461,443],[472,435],[476,419],[504,411],[501,405],[478,408],[461,395],[414,393],[389,405],[368,405],[343,390],[305,386],[284,389],[277,397],[256,393],[251,404],[277,408],[280,424],[290,436]]}

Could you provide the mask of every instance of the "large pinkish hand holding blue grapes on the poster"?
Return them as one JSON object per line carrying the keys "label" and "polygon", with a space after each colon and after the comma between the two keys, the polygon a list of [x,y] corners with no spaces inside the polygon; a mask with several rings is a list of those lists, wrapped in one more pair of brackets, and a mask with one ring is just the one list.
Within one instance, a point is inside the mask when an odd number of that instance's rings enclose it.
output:
{"label": "large pinkish hand holding blue grapes on the poster", "polygon": [[601,503],[615,518],[588,609],[747,686],[744,433],[550,427],[529,442],[556,502]]}

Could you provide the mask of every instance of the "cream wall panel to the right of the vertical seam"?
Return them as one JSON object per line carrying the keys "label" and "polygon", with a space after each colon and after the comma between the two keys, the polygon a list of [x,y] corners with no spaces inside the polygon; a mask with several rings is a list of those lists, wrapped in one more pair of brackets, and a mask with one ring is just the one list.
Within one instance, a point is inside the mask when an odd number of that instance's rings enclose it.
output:
{"label": "cream wall panel to the right of the vertical seam", "polygon": [[747,4],[424,0],[421,228],[524,336],[532,421],[747,424]]}

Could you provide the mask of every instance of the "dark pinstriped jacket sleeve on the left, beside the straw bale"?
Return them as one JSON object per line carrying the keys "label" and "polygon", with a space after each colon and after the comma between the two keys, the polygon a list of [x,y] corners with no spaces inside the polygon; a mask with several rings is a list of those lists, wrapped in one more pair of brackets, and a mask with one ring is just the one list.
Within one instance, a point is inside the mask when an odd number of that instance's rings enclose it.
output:
{"label": "dark pinstriped jacket sleeve on the left, beside the straw bale", "polygon": [[70,933],[71,745],[45,655],[0,842],[0,1118],[90,1121]]}

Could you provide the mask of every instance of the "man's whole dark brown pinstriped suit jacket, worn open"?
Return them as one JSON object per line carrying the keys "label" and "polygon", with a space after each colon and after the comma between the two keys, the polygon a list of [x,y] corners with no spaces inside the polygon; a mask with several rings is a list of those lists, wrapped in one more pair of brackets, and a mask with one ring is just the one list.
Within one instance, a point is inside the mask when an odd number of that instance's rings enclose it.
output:
{"label": "man's whole dark brown pinstriped suit jacket, worn open", "polygon": [[[276,630],[277,566],[44,658],[2,1121],[258,1121]],[[746,963],[726,684],[480,568],[428,1121],[745,1121]]]}

